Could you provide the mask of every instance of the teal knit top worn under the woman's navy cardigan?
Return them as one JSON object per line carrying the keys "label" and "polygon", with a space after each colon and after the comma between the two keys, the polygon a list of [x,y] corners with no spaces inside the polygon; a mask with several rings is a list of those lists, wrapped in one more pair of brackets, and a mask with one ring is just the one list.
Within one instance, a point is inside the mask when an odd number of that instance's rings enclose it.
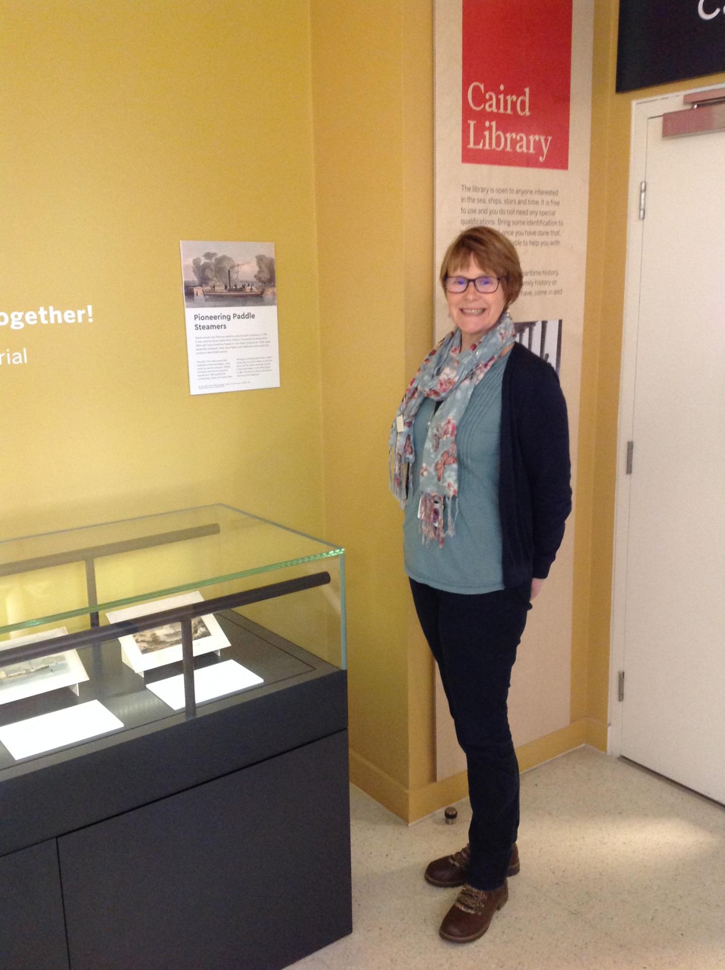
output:
{"label": "teal knit top worn under the woman's navy cardigan", "polygon": [[[510,355],[498,360],[471,395],[456,432],[458,512],[455,534],[424,545],[417,520],[417,489],[423,445],[435,402],[415,416],[411,497],[403,527],[406,572],[418,583],[447,593],[493,593],[504,589],[499,516],[501,385]],[[414,489],[414,491],[413,491]]]}

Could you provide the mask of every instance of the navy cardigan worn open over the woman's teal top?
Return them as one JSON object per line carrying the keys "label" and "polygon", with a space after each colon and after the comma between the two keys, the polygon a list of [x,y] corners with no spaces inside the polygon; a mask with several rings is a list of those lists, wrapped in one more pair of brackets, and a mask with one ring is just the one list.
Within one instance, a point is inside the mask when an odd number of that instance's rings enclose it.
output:
{"label": "navy cardigan worn open over the woman's teal top", "polygon": [[501,389],[504,586],[545,579],[572,510],[567,405],[550,364],[515,343]]}

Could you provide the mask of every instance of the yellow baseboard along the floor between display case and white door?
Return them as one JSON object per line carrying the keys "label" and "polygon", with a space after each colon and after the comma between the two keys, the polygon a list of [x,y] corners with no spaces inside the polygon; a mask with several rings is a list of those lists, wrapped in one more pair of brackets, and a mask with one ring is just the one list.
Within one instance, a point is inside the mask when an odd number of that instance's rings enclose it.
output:
{"label": "yellow baseboard along the floor between display case and white door", "polygon": [[[590,718],[581,718],[567,727],[537,738],[536,741],[523,744],[516,748],[519,768],[521,771],[528,771],[529,768],[544,764],[544,761],[580,748],[583,744],[591,745],[599,751],[607,751],[607,725]],[[465,771],[411,792],[354,751],[350,751],[350,781],[409,824],[468,795]]]}

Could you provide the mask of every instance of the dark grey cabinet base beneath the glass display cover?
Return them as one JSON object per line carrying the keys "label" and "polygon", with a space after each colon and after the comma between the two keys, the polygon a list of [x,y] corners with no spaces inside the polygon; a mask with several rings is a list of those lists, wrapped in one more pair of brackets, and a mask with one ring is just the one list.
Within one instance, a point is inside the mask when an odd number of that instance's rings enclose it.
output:
{"label": "dark grey cabinet base beneath the glass display cover", "polygon": [[110,641],[84,663],[144,723],[5,766],[3,970],[265,970],[351,931],[346,672],[218,619],[262,687],[154,721]]}

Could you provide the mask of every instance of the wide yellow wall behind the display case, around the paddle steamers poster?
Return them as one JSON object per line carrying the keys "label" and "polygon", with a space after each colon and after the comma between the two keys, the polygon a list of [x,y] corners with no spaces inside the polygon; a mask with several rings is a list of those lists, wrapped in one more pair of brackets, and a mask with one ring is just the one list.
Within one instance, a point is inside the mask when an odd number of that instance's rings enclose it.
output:
{"label": "wide yellow wall behind the display case, around the paddle steamers poster", "polygon": [[[323,531],[307,0],[0,0],[0,535],[228,501]],[[276,243],[280,389],[190,397],[180,240]]]}

